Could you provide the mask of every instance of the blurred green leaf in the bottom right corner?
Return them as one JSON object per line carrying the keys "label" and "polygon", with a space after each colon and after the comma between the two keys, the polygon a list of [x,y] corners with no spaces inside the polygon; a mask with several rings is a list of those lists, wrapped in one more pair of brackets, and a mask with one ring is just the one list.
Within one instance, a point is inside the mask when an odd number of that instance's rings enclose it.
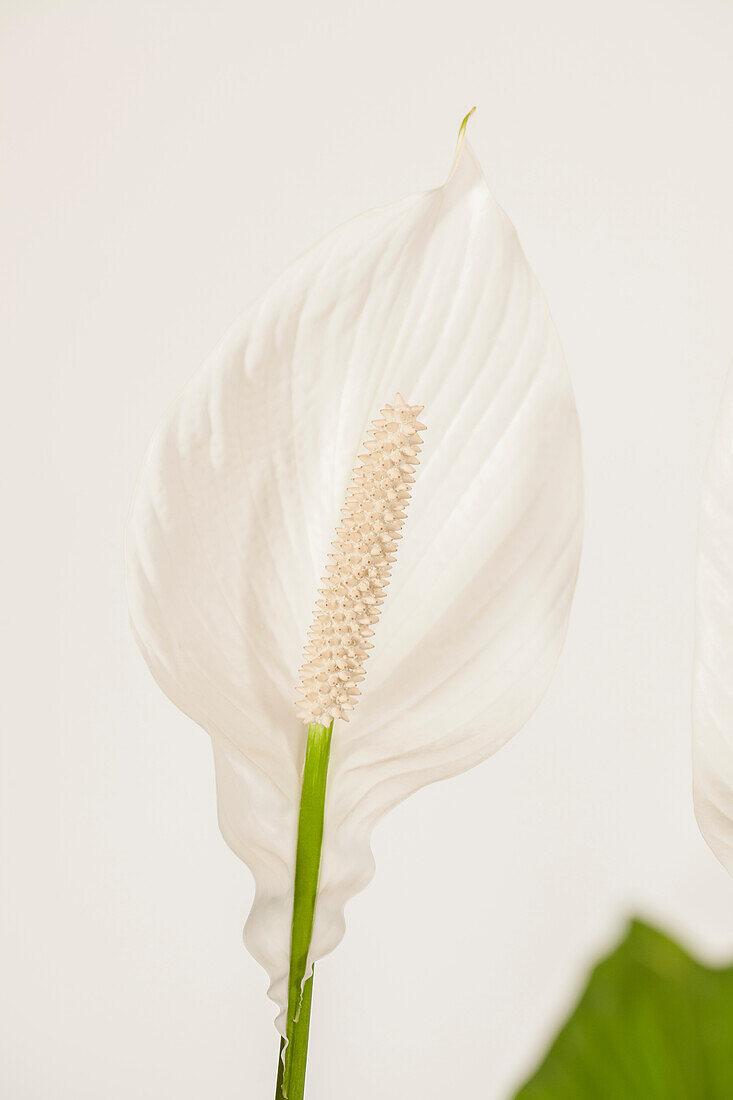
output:
{"label": "blurred green leaf in the bottom right corner", "polygon": [[733,967],[633,921],[515,1100],[575,1098],[731,1100]]}

